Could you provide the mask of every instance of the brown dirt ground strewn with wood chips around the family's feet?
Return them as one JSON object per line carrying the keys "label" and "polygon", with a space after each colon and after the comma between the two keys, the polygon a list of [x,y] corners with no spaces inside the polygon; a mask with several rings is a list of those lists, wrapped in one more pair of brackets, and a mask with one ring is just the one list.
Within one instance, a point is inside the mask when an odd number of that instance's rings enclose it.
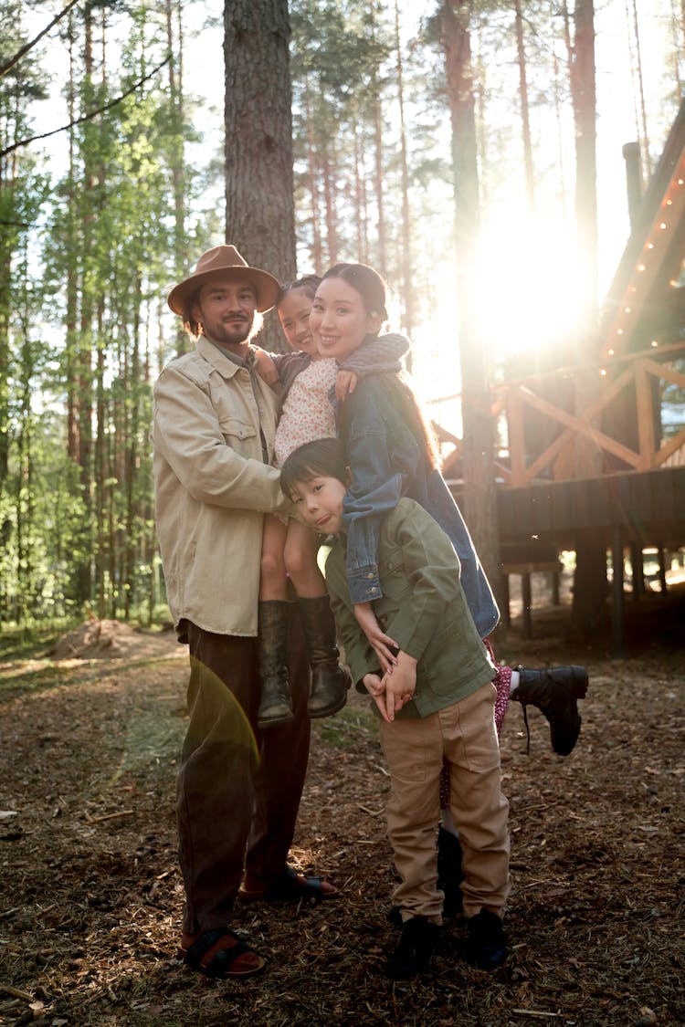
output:
{"label": "brown dirt ground strewn with wood chips around the family's feet", "polygon": [[403,985],[382,974],[396,939],[388,783],[360,696],[315,724],[292,852],[342,896],[237,909],[268,971],[212,982],[175,956],[185,649],[114,625],[100,648],[116,658],[86,656],[85,634],[66,655],[0,651],[0,1024],[685,1024],[685,606],[634,605],[623,659],[571,648],[563,618],[500,646],[508,661],[588,667],[580,740],[555,756],[532,711],[528,756],[511,703],[508,960],[470,968],[456,920],[431,971]]}

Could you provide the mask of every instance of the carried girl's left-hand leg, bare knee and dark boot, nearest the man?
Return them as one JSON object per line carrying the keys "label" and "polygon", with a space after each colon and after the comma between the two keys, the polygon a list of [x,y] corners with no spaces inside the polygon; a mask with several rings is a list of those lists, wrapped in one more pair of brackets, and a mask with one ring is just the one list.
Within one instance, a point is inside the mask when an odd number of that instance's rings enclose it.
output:
{"label": "carried girl's left-hand leg, bare knee and dark boot, nearest the man", "polygon": [[262,729],[293,720],[293,699],[288,679],[290,604],[286,601],[286,531],[287,526],[278,518],[270,514],[264,517],[258,639],[261,697],[257,715]]}

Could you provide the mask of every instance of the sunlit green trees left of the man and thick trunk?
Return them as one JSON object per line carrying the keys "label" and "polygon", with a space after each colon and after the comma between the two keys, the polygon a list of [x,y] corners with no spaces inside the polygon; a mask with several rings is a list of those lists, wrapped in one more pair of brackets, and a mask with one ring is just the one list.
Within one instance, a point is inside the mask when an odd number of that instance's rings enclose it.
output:
{"label": "sunlit green trees left of the man and thick trunk", "polygon": [[[24,10],[13,8],[5,55],[26,39]],[[59,179],[39,179],[30,150],[0,161],[3,622],[92,611],[149,623],[164,609],[151,382],[177,347],[163,298],[187,266],[185,226],[204,183],[184,148],[199,132],[178,75],[152,74],[167,55],[163,9],[96,11],[61,26],[73,59],[64,88],[75,118],[104,113],[74,124]],[[0,146],[31,135],[38,68],[33,54],[0,79]],[[205,230],[190,229],[201,248]]]}

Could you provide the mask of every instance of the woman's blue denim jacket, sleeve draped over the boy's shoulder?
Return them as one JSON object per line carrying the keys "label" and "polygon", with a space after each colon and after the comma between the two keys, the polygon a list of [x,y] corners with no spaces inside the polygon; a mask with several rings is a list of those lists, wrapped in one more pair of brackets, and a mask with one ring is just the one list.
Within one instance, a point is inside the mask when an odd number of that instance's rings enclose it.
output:
{"label": "woman's blue denim jacket, sleeve draped over the boy's shoulder", "polygon": [[497,625],[499,611],[459,507],[425,445],[407,423],[387,379],[370,375],[344,403],[336,405],[338,433],[352,474],[345,496],[347,580],[353,603],[382,595],[378,543],[383,518],[402,496],[416,500],[446,532],[461,562],[461,584],[481,638]]}

